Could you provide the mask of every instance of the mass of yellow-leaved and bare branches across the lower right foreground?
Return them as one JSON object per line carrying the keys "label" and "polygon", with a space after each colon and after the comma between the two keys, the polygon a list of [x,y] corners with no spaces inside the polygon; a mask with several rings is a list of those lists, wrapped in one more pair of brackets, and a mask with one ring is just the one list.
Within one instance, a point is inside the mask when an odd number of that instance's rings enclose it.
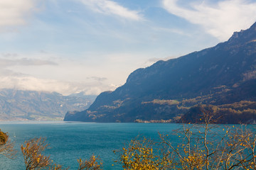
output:
{"label": "mass of yellow-leaved and bare branches across the lower right foreground", "polygon": [[[256,135],[252,127],[220,128],[218,115],[202,110],[198,124],[183,124],[161,142],[134,139],[122,149],[124,169],[256,169]],[[154,148],[161,152],[154,153]]]}

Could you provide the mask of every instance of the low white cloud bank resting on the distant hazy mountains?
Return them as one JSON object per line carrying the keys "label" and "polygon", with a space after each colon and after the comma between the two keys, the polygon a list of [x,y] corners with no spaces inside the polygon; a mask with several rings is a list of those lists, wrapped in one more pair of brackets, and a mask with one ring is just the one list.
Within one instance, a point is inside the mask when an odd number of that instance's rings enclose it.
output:
{"label": "low white cloud bank resting on the distant hazy mountains", "polygon": [[70,81],[58,81],[53,79],[38,79],[28,75],[0,76],[0,89],[18,89],[29,91],[58,92],[69,95],[83,91],[87,95],[98,95],[102,91],[116,89],[116,86],[100,84],[99,82],[78,83]]}

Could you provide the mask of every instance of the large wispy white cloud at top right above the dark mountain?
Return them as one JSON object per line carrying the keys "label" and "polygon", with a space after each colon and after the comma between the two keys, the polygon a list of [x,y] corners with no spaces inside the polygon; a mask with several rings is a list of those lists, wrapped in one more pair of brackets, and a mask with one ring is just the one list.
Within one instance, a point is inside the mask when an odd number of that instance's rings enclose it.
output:
{"label": "large wispy white cloud at top right above the dark mountain", "polygon": [[203,26],[219,40],[227,40],[234,31],[249,28],[256,21],[256,3],[246,0],[193,1],[190,9],[178,6],[178,0],[163,0],[166,11]]}

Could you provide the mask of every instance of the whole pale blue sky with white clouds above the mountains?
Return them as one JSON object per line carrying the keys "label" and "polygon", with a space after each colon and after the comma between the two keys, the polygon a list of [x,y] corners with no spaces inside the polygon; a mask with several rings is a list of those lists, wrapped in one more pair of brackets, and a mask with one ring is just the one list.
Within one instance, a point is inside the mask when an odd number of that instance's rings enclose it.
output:
{"label": "whole pale blue sky with white clouds above the mountains", "polygon": [[97,95],[255,21],[256,0],[1,0],[0,89]]}

